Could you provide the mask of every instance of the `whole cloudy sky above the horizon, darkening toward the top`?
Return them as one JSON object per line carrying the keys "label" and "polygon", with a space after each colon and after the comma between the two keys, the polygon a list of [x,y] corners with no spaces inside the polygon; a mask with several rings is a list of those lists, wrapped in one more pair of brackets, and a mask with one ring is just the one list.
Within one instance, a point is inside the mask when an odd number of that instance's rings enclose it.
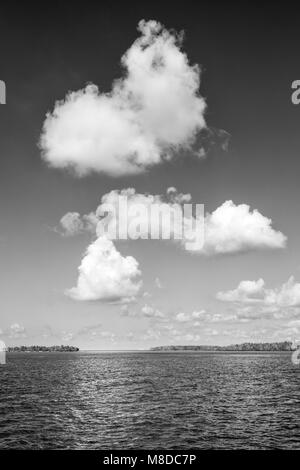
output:
{"label": "whole cloudy sky above the horizon, darkening toward the top", "polygon": [[[194,3],[1,6],[6,344],[299,339],[299,19]],[[204,204],[204,247],[103,239],[121,191]]]}

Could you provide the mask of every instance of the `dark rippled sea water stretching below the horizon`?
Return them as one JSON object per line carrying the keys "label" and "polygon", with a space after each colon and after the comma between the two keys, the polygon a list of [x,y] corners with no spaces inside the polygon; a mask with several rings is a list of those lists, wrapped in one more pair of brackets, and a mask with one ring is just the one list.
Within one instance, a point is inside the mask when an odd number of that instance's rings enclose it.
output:
{"label": "dark rippled sea water stretching below the horizon", "polygon": [[0,449],[300,449],[289,353],[9,353]]}

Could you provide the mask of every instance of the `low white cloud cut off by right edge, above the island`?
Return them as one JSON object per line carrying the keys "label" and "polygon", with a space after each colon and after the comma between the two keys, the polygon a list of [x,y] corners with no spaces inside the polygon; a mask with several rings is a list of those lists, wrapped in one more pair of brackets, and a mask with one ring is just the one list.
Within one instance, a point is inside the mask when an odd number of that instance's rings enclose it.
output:
{"label": "low white cloud cut off by right edge, above the island", "polygon": [[217,299],[240,304],[260,304],[267,308],[265,312],[276,313],[278,308],[300,306],[300,283],[291,276],[281,287],[267,289],[263,279],[242,281],[236,289],[219,292]]}

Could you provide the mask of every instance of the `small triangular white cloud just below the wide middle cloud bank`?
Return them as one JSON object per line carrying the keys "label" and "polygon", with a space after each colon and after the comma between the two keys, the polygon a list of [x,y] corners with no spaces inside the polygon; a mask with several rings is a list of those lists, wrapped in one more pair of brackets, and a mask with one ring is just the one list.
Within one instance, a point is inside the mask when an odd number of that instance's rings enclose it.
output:
{"label": "small triangular white cloud just below the wide middle cloud bank", "polygon": [[123,257],[105,237],[88,247],[78,271],[77,286],[66,292],[75,300],[124,300],[135,296],[142,285],[136,259]]}

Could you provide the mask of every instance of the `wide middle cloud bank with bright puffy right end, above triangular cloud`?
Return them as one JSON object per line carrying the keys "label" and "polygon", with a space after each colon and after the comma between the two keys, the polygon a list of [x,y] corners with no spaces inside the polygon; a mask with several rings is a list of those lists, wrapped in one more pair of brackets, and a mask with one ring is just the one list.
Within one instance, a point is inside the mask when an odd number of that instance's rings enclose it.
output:
{"label": "wide middle cloud bank with bright puffy right end, above triangular cloud", "polygon": [[[122,198],[126,205],[119,211]],[[97,232],[98,236],[105,233],[118,237],[122,217],[126,213],[125,238],[130,238],[132,228],[138,229],[134,236],[142,239],[150,238],[153,233],[159,234],[158,238],[166,238],[164,234],[169,234],[173,242],[196,254],[212,256],[286,246],[287,237],[272,227],[272,220],[257,209],[251,211],[247,204],[236,205],[233,201],[226,201],[211,214],[200,214],[197,219],[184,211],[185,204],[191,204],[191,195],[178,193],[174,187],[168,188],[166,195],[141,194],[134,188],[113,190],[102,196],[95,212],[84,215],[80,220],[77,213],[72,213],[75,214],[75,224],[71,224],[71,230],[68,227],[62,227],[62,230],[75,234],[77,226],[78,232],[85,227]],[[152,217],[154,205],[159,208],[161,216]],[[69,222],[70,215],[66,216]]]}

